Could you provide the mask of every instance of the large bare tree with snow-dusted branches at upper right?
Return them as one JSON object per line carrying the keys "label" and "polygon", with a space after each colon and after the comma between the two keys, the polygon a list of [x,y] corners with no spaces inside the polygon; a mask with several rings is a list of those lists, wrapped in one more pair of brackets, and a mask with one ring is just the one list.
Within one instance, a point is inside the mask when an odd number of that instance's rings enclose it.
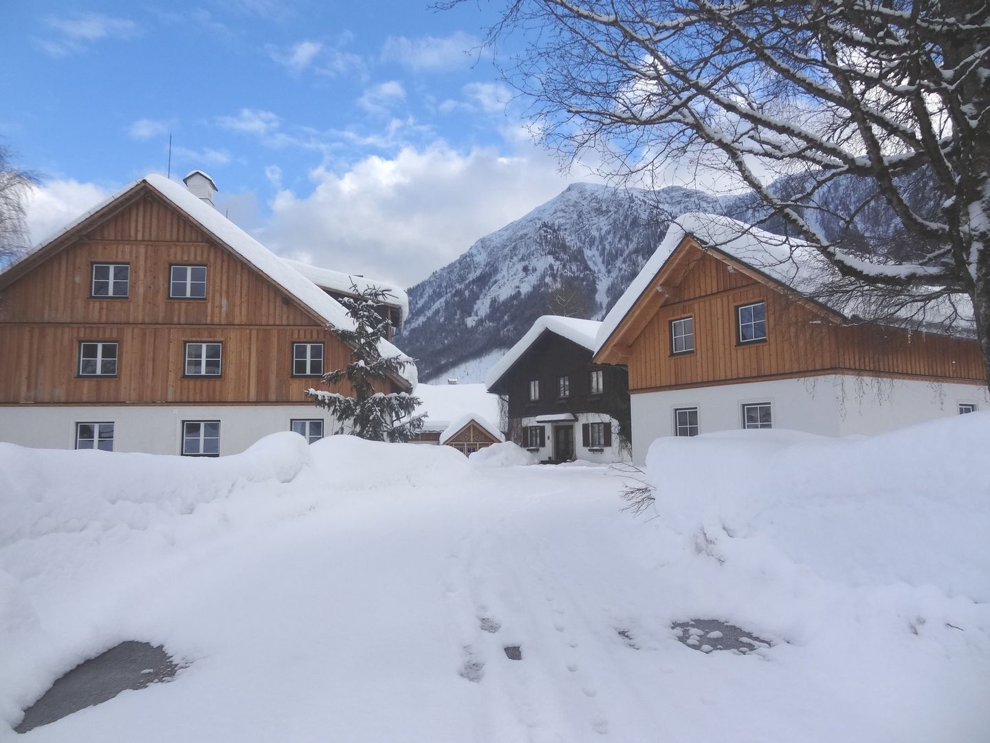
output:
{"label": "large bare tree with snow-dusted branches at upper right", "polygon": [[723,168],[846,288],[968,296],[990,383],[987,0],[509,0],[488,42],[565,157]]}

